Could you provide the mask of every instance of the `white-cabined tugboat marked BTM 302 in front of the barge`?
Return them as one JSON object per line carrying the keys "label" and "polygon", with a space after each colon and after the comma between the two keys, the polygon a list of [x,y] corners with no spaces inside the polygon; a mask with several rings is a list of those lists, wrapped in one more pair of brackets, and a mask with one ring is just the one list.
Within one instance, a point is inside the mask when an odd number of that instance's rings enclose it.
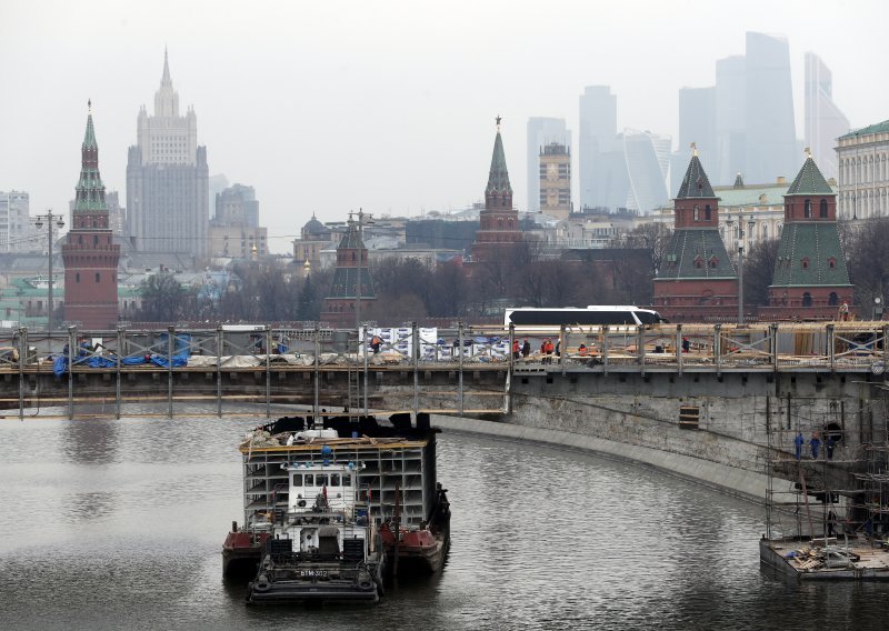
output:
{"label": "white-cabined tugboat marked BTM 302 in front of the barge", "polygon": [[247,602],[377,602],[383,591],[386,554],[379,534],[360,509],[356,464],[331,463],[332,450],[318,463],[284,465],[286,512],[258,519],[268,531],[266,550]]}

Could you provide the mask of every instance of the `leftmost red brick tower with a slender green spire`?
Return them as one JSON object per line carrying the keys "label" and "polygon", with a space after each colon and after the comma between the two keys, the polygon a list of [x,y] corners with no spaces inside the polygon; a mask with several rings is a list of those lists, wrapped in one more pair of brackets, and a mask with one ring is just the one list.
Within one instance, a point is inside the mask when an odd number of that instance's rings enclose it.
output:
{"label": "leftmost red brick tower with a slender green spire", "polygon": [[108,219],[90,107],[71,229],[62,244],[64,319],[83,329],[113,329],[117,325],[120,246],[111,240]]}

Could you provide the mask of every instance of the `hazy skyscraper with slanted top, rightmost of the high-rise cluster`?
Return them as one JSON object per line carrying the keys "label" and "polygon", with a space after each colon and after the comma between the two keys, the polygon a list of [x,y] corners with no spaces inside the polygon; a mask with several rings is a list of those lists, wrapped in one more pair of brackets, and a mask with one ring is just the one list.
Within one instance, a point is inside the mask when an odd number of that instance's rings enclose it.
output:
{"label": "hazy skyscraper with slanted top, rightmost of the high-rise cluster", "polygon": [[806,53],[806,146],[825,178],[839,177],[837,139],[848,133],[849,119],[833,102],[833,76],[821,59]]}

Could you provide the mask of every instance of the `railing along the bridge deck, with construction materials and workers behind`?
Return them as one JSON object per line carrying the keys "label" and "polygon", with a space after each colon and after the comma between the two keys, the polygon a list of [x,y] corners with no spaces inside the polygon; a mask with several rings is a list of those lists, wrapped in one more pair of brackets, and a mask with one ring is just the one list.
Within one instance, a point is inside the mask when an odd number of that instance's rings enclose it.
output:
{"label": "railing along the bridge deck, with construction materials and workers behind", "polygon": [[[380,338],[379,347],[372,344]],[[552,352],[547,352],[549,340]],[[516,342],[518,342],[516,344]],[[527,342],[527,343],[526,343]],[[516,348],[518,347],[518,352]],[[0,331],[0,372],[53,364],[172,371],[193,368],[347,370],[490,367],[545,370],[857,370],[886,365],[883,322],[659,324],[558,329],[473,327]],[[73,365],[71,365],[73,363]]]}

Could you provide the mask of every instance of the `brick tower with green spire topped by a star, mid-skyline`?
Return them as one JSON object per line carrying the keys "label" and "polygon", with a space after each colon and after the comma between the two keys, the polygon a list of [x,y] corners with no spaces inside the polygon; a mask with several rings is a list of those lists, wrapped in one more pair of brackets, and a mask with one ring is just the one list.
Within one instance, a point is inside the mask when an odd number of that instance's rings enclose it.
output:
{"label": "brick tower with green spire topped by a star, mid-skyline", "polygon": [[521,243],[519,213],[512,208],[512,187],[509,184],[503,140],[500,138],[500,117],[497,117],[491,170],[485,189],[485,210],[479,212],[479,221],[481,226],[472,243],[473,263],[501,260],[508,249]]}

